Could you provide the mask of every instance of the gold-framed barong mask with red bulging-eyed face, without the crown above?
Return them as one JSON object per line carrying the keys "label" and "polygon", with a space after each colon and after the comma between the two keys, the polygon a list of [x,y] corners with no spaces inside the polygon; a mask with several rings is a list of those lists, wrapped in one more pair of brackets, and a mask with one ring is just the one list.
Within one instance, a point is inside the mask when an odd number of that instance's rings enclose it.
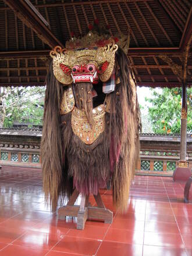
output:
{"label": "gold-framed barong mask with red bulging-eyed face, without the crown above", "polygon": [[106,42],[108,44],[105,47],[94,47],[97,49],[72,51],[55,47],[50,55],[53,58],[56,79],[65,85],[81,82],[97,83],[99,79],[103,82],[109,80],[118,45],[113,40]]}

